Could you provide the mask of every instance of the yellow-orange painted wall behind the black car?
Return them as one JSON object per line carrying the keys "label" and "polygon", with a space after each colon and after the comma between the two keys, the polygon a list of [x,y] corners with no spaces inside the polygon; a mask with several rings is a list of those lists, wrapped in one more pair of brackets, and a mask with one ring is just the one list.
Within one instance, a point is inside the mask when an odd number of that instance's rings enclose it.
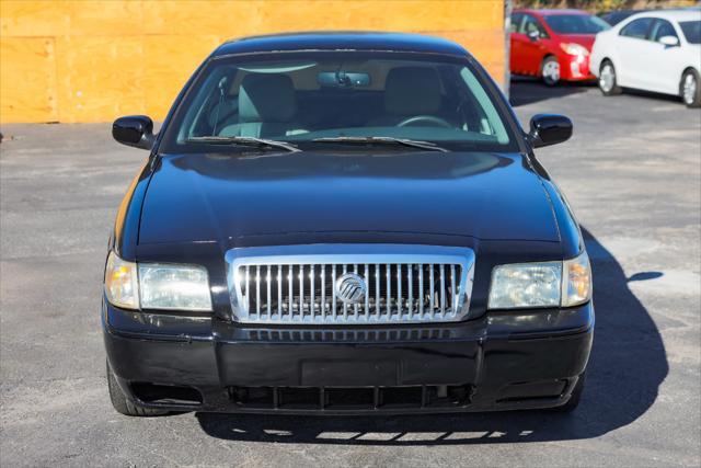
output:
{"label": "yellow-orange painted wall behind the black car", "polygon": [[504,78],[503,0],[0,0],[0,122],[162,119],[217,45],[307,30],[410,31]]}

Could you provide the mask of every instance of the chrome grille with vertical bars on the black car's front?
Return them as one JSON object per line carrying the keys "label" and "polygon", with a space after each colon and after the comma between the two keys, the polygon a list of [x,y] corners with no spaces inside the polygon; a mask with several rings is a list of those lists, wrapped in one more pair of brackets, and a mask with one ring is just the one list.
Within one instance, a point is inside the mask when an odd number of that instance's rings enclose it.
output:
{"label": "chrome grille with vertical bars on the black car's front", "polygon": [[[334,253],[337,252],[337,253]],[[244,323],[411,323],[464,318],[472,288],[470,249],[320,244],[227,253],[234,318]],[[340,295],[353,273],[365,294]],[[345,276],[344,276],[345,275]]]}

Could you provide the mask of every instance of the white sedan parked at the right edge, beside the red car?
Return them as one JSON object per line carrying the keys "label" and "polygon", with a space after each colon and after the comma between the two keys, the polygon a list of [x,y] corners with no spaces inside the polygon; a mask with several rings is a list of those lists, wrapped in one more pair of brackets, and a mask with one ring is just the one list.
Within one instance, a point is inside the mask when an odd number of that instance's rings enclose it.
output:
{"label": "white sedan parked at the right edge, beside the red car", "polygon": [[634,88],[701,106],[701,10],[634,14],[597,34],[589,66],[605,95]]}

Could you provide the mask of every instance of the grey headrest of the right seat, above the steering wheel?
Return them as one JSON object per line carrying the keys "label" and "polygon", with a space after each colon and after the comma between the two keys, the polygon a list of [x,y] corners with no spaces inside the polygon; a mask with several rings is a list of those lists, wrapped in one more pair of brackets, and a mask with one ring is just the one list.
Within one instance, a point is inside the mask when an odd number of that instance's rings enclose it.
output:
{"label": "grey headrest of the right seat, above the steering wheel", "polygon": [[435,68],[398,67],[387,73],[384,111],[388,114],[433,114],[439,109],[440,79]]}

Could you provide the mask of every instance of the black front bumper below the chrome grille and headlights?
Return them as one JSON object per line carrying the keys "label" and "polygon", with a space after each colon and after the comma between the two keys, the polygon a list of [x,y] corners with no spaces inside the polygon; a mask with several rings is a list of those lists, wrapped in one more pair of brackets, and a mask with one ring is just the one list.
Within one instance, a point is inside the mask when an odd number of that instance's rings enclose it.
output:
{"label": "black front bumper below the chrome grille and headlights", "polygon": [[594,308],[489,312],[459,323],[256,327],[103,301],[107,359],[145,408],[407,413],[564,404],[591,349]]}

